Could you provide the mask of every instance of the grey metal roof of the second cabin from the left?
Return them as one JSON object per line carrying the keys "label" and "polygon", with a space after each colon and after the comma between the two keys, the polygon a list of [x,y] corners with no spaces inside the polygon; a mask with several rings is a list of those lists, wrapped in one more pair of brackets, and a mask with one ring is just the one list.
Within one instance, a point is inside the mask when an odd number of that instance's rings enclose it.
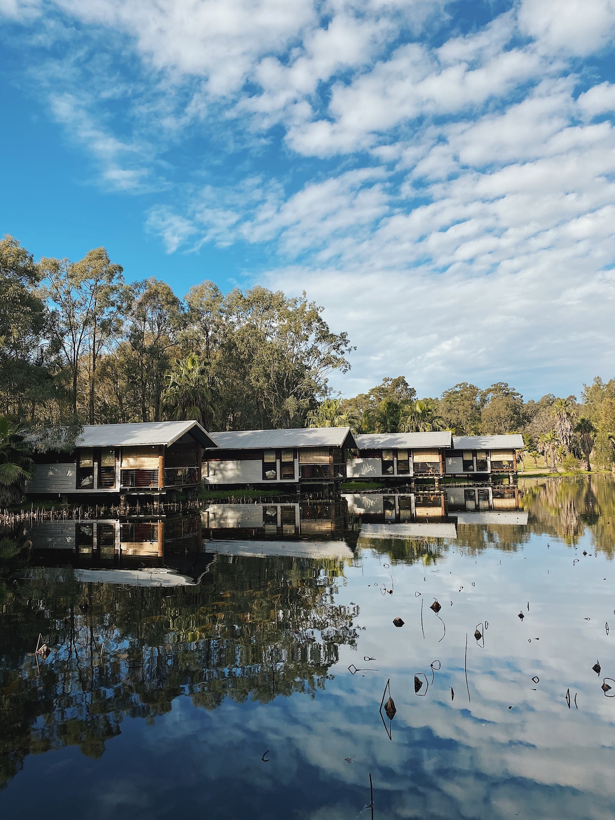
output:
{"label": "grey metal roof of the second cabin from the left", "polygon": [[298,427],[292,430],[233,430],[212,433],[221,449],[276,449],[283,447],[356,447],[349,427]]}

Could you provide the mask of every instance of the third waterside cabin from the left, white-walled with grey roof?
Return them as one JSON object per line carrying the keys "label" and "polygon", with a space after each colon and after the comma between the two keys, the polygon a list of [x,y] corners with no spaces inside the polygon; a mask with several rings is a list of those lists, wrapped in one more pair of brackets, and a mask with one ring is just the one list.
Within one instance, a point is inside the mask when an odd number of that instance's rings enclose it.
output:
{"label": "third waterside cabin from the left, white-walled with grey roof", "polygon": [[444,476],[444,458],[453,445],[450,431],[356,435],[358,454],[348,463],[348,477],[397,478]]}

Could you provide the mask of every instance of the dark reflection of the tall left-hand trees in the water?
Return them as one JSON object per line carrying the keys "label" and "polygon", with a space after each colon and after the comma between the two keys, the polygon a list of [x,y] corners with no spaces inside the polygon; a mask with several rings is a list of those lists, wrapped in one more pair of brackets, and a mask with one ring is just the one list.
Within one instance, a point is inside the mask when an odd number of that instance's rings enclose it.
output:
{"label": "dark reflection of the tall left-hand trees in the water", "polygon": [[[14,577],[2,618],[0,782],[27,754],[79,745],[99,757],[125,715],[153,720],[185,692],[210,709],[227,696],[313,695],[339,645],[356,639],[358,608],[335,604],[341,575],[333,559],[234,558],[212,564],[199,586],[82,585],[68,568]],[[34,656],[39,633],[46,659]]]}

